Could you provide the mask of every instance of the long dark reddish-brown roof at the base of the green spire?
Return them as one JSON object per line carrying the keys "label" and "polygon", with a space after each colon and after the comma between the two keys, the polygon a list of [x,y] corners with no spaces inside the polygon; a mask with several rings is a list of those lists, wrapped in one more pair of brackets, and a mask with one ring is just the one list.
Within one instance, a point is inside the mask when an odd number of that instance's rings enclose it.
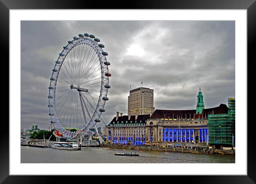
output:
{"label": "long dark reddish-brown roof at the base of the green spire", "polygon": [[203,109],[202,114],[196,114],[196,109],[193,110],[160,110],[156,109],[152,116],[149,119],[185,119],[187,116],[187,119],[189,119],[189,116],[191,119],[194,118],[208,118],[208,114],[227,114],[228,113],[228,107],[225,104],[220,104],[218,107]]}

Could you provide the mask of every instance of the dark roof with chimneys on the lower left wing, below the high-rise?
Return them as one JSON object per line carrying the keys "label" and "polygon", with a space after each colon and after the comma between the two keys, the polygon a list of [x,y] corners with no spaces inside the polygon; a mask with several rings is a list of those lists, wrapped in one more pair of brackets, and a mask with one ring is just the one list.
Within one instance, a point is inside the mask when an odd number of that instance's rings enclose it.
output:
{"label": "dark roof with chimneys on the lower left wing, below the high-rise", "polygon": [[150,117],[149,114],[144,114],[144,115],[138,115],[138,117],[136,119],[136,116],[133,115],[129,119],[129,116],[124,115],[124,116],[119,116],[118,119],[116,120],[116,116],[115,116],[112,119],[112,121],[108,124],[108,126],[110,126],[110,124],[126,124],[126,123],[127,124],[129,124],[129,123],[145,123],[146,124],[146,121],[149,117]]}

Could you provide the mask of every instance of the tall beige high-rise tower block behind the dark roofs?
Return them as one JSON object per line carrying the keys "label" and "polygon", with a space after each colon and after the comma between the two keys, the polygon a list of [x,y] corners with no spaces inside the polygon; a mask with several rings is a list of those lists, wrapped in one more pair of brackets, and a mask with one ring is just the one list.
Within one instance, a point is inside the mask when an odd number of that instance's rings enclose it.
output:
{"label": "tall beige high-rise tower block behind the dark roofs", "polygon": [[154,90],[139,87],[130,91],[128,96],[128,115],[150,114],[154,107]]}

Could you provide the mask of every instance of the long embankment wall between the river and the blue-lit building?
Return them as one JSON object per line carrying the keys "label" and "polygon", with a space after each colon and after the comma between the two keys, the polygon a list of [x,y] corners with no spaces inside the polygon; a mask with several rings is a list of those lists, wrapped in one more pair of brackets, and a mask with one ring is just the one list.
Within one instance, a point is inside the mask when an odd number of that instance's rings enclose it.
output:
{"label": "long embankment wall between the river and the blue-lit building", "polygon": [[206,147],[161,148],[161,147],[127,146],[127,145],[101,145],[100,147],[103,147],[103,148],[117,148],[117,149],[134,149],[134,150],[162,151],[162,152],[235,155],[235,150],[209,149],[209,148],[206,148]]}

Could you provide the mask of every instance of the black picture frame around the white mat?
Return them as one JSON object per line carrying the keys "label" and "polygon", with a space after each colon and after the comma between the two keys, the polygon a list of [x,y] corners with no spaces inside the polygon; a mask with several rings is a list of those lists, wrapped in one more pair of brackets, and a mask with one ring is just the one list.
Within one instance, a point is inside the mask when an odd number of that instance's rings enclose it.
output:
{"label": "black picture frame around the white mat", "polygon": [[[11,9],[245,9],[247,10],[247,67],[249,63],[256,61],[253,45],[256,37],[256,2],[255,0],[130,0],[130,1],[105,1],[96,3],[94,1],[82,0],[0,0],[0,39],[2,52],[6,53],[6,60],[9,60],[9,10]],[[5,60],[5,61],[6,61]],[[3,60],[2,60],[3,61]],[[17,61],[18,62],[18,61]],[[246,62],[246,61],[245,61]],[[8,66],[7,66],[8,67]],[[248,67],[250,68],[250,67]],[[247,78],[248,77],[247,72]],[[248,90],[248,89],[247,89]],[[246,91],[246,90],[245,90]],[[252,91],[248,91],[247,96],[252,97]],[[251,95],[250,95],[251,94]],[[11,98],[9,96],[9,98]],[[249,114],[253,108],[245,107]],[[255,109],[255,108],[254,108]],[[245,119],[247,119],[246,117]],[[4,120],[5,121],[5,120]],[[250,118],[247,119],[250,122]],[[171,176],[172,180],[182,179],[189,183],[255,183],[256,182],[256,154],[253,136],[253,121],[247,124],[247,175],[203,175],[203,176]],[[2,125],[4,122],[2,122]],[[7,124],[4,124],[7,127]],[[7,128],[8,129],[8,128]],[[0,139],[0,182],[3,183],[52,183],[53,177],[50,176],[18,176],[9,175],[9,131],[2,131]],[[245,147],[246,149],[246,147]],[[125,173],[124,173],[125,174]],[[74,179],[74,176],[72,176]],[[104,182],[105,177],[97,177],[97,180]],[[123,176],[122,183],[128,182]],[[143,177],[143,183],[152,177]],[[161,178],[157,176],[157,178]],[[169,178],[169,177],[168,177]],[[61,181],[61,176],[55,176],[54,181]],[[62,178],[63,179],[63,178]],[[68,182],[65,178],[65,182]],[[76,176],[75,179],[85,179]],[[93,180],[93,179],[92,179]],[[114,180],[113,178],[111,179]],[[169,179],[166,180],[166,182]],[[74,181],[74,180],[73,180]]]}

